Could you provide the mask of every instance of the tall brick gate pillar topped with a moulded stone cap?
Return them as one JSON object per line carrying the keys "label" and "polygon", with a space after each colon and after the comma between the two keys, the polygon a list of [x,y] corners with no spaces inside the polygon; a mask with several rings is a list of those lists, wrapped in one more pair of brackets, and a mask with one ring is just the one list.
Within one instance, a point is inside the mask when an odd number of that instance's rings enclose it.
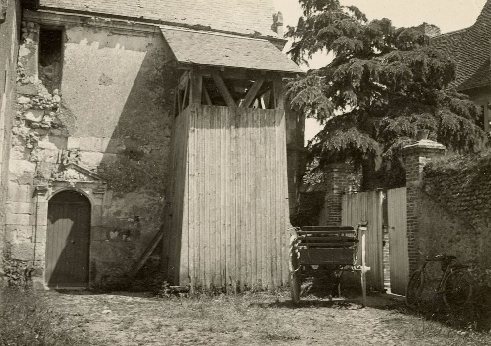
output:
{"label": "tall brick gate pillar topped with a moulded stone cap", "polygon": [[403,148],[406,168],[407,188],[407,248],[409,253],[409,272],[417,269],[418,252],[418,190],[422,181],[423,167],[435,156],[445,153],[446,147],[428,139],[422,139]]}

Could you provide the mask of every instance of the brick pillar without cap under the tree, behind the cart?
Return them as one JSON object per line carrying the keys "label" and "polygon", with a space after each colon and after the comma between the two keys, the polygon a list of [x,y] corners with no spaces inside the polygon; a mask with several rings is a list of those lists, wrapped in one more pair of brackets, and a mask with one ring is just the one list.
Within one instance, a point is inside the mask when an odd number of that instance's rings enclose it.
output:
{"label": "brick pillar without cap under the tree, behind the cart", "polygon": [[353,168],[347,164],[331,164],[327,168],[324,204],[327,211],[326,226],[341,225],[341,194],[351,190],[352,174]]}

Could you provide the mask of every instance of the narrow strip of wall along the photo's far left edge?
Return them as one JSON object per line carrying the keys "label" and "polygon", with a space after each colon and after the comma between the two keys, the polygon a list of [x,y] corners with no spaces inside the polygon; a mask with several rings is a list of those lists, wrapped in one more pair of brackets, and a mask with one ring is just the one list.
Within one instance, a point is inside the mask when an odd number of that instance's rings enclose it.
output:
{"label": "narrow strip of wall along the photo's far left edge", "polygon": [[12,129],[11,109],[15,100],[15,68],[20,30],[19,1],[0,1],[0,284],[4,275],[8,158]]}

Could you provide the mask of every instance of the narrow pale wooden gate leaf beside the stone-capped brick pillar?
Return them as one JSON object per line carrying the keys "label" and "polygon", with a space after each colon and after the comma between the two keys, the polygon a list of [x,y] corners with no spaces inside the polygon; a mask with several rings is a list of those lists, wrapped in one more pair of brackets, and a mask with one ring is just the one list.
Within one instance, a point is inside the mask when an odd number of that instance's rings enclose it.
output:
{"label": "narrow pale wooden gate leaf beside the stone-capped brick pillar", "polygon": [[404,295],[409,278],[406,188],[387,190],[391,292]]}

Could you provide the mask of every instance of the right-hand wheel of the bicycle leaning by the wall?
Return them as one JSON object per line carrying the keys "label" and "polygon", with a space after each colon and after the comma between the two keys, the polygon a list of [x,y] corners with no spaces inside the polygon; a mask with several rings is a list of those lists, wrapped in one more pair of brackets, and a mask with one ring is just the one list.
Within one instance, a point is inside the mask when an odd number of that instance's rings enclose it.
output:
{"label": "right-hand wheel of the bicycle leaning by the wall", "polygon": [[471,278],[467,271],[455,270],[447,275],[443,284],[443,301],[449,309],[465,305],[471,294]]}

